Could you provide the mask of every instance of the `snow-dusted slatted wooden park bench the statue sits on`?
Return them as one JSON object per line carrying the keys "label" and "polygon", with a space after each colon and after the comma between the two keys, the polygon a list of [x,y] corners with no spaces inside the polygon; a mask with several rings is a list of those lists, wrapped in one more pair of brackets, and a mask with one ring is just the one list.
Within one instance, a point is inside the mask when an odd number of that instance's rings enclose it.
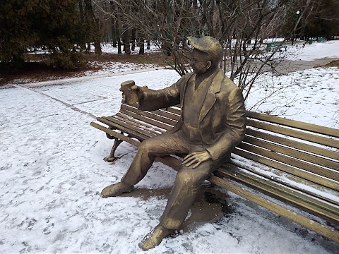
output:
{"label": "snow-dusted slatted wooden park bench the statue sits on", "polygon": [[[114,116],[91,126],[114,139],[140,145],[174,126],[179,107],[141,111],[121,102]],[[246,137],[231,162],[208,181],[339,243],[339,130],[247,111]],[[179,169],[180,157],[158,161]]]}

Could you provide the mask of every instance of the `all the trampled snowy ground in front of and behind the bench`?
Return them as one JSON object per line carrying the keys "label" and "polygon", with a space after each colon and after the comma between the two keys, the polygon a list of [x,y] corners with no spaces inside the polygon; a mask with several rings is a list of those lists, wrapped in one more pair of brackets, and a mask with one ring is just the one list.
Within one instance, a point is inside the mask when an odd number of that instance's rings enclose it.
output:
{"label": "all the trampled snowy ground in front of and behind the bench", "polygon": [[[122,143],[120,158],[107,164],[102,158],[109,154],[112,140],[90,121],[119,110],[124,80],[159,89],[178,78],[174,71],[159,70],[0,89],[0,253],[143,253],[138,242],[157,225],[166,199],[100,197],[102,188],[124,175],[136,148]],[[338,68],[314,68],[270,80],[291,85],[283,97],[280,92],[256,107],[271,90],[268,80],[259,81],[247,108],[276,108],[273,114],[285,112],[290,119],[338,128]],[[155,163],[136,193],[168,188],[174,177],[175,171]],[[147,253],[339,252],[338,244],[229,195],[232,214],[166,238]]]}

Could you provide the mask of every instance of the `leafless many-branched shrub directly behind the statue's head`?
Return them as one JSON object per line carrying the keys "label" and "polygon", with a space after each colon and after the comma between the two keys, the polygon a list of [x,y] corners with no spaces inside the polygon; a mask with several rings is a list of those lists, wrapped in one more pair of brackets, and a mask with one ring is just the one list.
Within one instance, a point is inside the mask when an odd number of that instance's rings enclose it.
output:
{"label": "leafless many-branched shrub directly behind the statue's head", "polygon": [[[133,30],[140,42],[152,40],[162,50],[167,64],[180,75],[191,71],[187,36],[218,38],[224,46],[220,67],[244,90],[247,98],[261,75],[278,74],[277,66],[287,56],[284,44],[295,36],[300,21],[307,15],[304,11],[314,8],[315,0],[302,0],[299,16],[295,14],[297,0],[110,1],[115,6],[110,14],[119,16],[124,32]],[[291,20],[288,29],[283,27],[282,20]],[[268,47],[272,38],[283,33],[285,40]]]}

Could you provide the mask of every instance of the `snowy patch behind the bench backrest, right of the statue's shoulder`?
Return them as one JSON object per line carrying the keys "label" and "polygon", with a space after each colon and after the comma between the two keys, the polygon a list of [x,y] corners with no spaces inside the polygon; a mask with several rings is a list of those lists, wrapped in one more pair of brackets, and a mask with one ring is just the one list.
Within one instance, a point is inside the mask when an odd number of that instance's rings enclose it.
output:
{"label": "snowy patch behind the bench backrest, right of the statue's shoulder", "polygon": [[339,69],[262,76],[246,102],[251,111],[339,128]]}

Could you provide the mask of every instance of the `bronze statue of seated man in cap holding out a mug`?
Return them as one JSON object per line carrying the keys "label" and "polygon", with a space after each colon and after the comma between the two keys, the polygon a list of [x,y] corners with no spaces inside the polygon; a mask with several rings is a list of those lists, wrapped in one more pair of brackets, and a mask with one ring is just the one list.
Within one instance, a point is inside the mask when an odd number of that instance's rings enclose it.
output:
{"label": "bronze statue of seated man in cap holding out a mug", "polygon": [[203,181],[227,162],[245,134],[242,90],[218,68],[222,59],[220,43],[208,36],[188,40],[194,47],[190,63],[193,73],[155,92],[143,90],[133,81],[121,85],[121,90],[126,88],[126,102],[136,102],[137,92],[139,109],[153,111],[177,104],[182,107],[174,128],[144,140],[121,182],[102,190],[104,198],[130,192],[147,174],[155,157],[186,154],[160,223],[139,245],[143,250],[157,246],[182,226]]}

